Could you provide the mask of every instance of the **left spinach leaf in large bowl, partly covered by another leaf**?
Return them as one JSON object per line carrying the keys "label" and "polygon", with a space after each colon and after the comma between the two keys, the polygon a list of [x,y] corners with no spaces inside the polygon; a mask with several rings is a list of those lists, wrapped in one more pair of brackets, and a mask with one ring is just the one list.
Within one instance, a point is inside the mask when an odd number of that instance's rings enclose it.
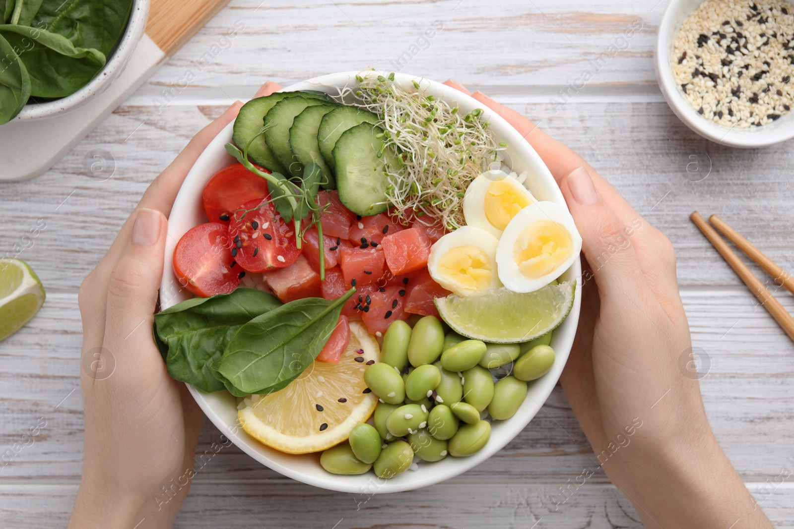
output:
{"label": "left spinach leaf in large bowl, partly covered by another leaf", "polygon": [[202,391],[224,389],[211,362],[220,358],[244,324],[280,306],[271,294],[241,287],[228,294],[195,297],[155,314],[156,342],[168,374]]}

